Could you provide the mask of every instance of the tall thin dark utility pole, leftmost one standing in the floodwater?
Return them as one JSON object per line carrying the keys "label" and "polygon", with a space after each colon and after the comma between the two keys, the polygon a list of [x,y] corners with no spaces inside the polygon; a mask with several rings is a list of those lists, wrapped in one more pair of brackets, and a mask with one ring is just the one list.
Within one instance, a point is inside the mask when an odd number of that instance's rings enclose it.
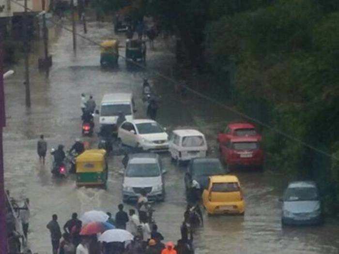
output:
{"label": "tall thin dark utility pole, leftmost one standing in the floodwater", "polygon": [[29,42],[27,35],[27,0],[25,0],[25,13],[23,19],[23,35],[24,35],[24,49],[25,49],[25,88],[26,88],[26,106],[31,107],[31,91],[30,91],[30,66],[29,66]]}

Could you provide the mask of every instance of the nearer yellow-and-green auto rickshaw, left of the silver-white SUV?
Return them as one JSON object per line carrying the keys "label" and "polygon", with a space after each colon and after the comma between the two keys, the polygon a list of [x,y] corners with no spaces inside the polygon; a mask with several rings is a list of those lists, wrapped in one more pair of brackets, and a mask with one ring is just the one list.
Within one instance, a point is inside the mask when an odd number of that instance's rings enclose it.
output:
{"label": "nearer yellow-and-green auto rickshaw, left of the silver-white SUV", "polygon": [[108,164],[106,150],[85,150],[76,159],[77,187],[100,186],[106,189],[108,179]]}

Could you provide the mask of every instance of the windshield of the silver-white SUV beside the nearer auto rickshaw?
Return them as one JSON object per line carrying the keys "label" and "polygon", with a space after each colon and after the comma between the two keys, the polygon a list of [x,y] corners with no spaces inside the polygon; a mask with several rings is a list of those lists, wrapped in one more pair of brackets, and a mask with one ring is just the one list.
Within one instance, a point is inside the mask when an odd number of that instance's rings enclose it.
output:
{"label": "windshield of the silver-white SUV beside the nearer auto rickshaw", "polygon": [[160,169],[157,164],[129,164],[126,177],[158,177]]}

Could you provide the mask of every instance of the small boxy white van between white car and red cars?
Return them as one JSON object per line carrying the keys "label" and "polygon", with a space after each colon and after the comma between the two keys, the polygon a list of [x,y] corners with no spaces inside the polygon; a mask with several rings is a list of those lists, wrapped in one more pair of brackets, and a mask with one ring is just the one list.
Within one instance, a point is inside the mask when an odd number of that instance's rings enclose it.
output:
{"label": "small boxy white van between white car and red cars", "polygon": [[169,143],[170,155],[177,162],[206,157],[205,135],[197,130],[175,130]]}

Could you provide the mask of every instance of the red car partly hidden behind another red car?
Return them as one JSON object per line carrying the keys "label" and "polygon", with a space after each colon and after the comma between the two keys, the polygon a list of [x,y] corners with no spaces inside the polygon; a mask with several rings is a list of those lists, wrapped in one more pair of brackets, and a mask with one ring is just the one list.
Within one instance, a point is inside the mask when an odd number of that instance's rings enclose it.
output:
{"label": "red car partly hidden behind another red car", "polygon": [[224,132],[218,134],[217,141],[220,144],[228,142],[232,137],[256,137],[259,141],[262,136],[257,132],[255,126],[251,123],[230,123]]}

